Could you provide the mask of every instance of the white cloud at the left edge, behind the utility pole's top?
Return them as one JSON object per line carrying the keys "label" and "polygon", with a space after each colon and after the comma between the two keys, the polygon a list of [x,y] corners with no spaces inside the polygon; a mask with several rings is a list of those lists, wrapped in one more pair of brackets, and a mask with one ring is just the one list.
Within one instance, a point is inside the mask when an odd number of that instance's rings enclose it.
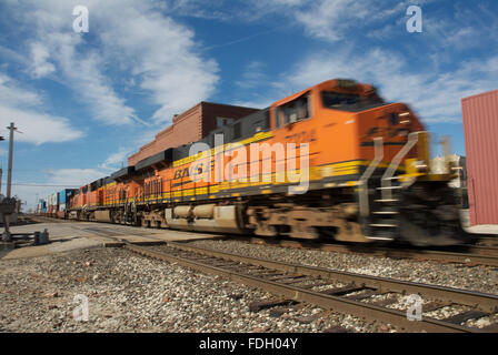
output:
{"label": "white cloud at the left edge, behind the utility pole's top", "polygon": [[77,140],[83,132],[71,126],[68,119],[43,112],[43,100],[37,93],[0,73],[0,124],[14,122],[23,134],[16,141],[43,144]]}

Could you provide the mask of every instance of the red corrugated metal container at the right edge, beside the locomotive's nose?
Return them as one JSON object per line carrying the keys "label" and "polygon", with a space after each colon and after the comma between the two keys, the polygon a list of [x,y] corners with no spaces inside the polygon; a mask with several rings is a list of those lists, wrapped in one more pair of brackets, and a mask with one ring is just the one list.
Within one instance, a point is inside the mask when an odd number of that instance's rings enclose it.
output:
{"label": "red corrugated metal container at the right edge, beside the locomotive's nose", "polygon": [[498,90],[461,100],[470,224],[498,224]]}

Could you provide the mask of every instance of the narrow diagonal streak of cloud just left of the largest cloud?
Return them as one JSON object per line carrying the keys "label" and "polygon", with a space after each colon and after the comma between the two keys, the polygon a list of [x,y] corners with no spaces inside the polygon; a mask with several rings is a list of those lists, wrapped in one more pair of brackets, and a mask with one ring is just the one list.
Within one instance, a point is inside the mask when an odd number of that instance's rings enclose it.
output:
{"label": "narrow diagonal streak of cloud just left of the largest cloud", "polygon": [[[43,78],[53,73],[56,68],[48,62],[50,59],[58,64],[66,85],[73,90],[79,100],[90,105],[96,120],[106,124],[131,123],[136,119],[135,110],[119,98],[102,74],[100,55],[88,48],[82,50],[87,44],[83,38],[66,28],[63,24],[67,23],[60,22],[60,18],[63,18],[61,10],[68,12],[71,8],[51,8],[50,3],[43,2],[42,6],[47,8],[39,8],[32,13],[38,21],[38,36],[31,42],[33,75]],[[72,20],[71,17],[66,18]],[[47,23],[49,21],[51,22]]]}

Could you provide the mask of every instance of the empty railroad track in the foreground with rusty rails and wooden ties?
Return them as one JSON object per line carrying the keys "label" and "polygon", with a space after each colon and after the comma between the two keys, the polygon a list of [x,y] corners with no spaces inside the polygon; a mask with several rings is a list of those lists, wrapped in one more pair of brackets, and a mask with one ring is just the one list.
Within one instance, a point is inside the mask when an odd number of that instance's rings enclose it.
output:
{"label": "empty railroad track in the foreground with rusty rails and wooden ties", "polygon": [[[106,233],[101,235],[106,236]],[[168,242],[151,248],[133,245],[118,236],[106,237],[121,242],[127,250],[143,256],[265,290],[279,297],[276,305],[305,302],[325,310],[389,323],[408,332],[498,331],[495,324],[484,329],[460,325],[468,320],[495,315],[498,312],[498,296],[491,294],[255,258],[187,243]],[[409,321],[406,312],[387,307],[407,294],[419,294],[425,300],[431,300],[424,306],[426,313],[455,305],[464,306],[466,311],[446,320],[422,316],[421,321]],[[376,296],[382,300],[369,302]]]}

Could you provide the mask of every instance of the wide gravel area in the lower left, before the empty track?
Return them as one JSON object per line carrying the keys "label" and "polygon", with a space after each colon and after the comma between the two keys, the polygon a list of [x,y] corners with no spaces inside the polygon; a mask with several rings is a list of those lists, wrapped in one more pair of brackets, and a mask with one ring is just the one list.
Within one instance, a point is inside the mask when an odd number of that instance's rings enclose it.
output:
{"label": "wide gravel area in the lower left, before the empty track", "polygon": [[[278,315],[250,312],[250,303],[275,296],[122,248],[1,261],[0,266],[0,332],[395,331],[305,304]],[[77,295],[88,298],[88,322],[73,318]]]}

